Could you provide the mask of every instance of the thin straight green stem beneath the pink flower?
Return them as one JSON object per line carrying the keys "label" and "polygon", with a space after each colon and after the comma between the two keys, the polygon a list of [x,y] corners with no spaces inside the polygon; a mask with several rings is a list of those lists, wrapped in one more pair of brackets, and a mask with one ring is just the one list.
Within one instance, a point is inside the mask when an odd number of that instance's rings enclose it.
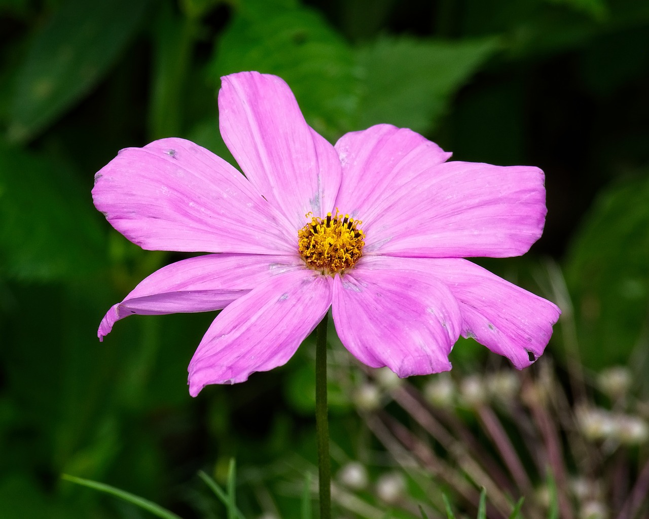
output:
{"label": "thin straight green stem beneath the pink flower", "polygon": [[326,325],[328,314],[315,332],[315,429],[318,444],[320,519],[331,518],[331,461],[326,404]]}

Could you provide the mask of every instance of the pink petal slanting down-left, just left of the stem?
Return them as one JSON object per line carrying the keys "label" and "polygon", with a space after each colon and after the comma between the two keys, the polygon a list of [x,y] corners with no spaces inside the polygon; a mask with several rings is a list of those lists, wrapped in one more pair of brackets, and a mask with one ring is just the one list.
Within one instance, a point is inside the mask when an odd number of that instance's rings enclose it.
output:
{"label": "pink petal slanting down-left, just left of the stem", "polygon": [[190,394],[286,364],[331,305],[332,278],[285,272],[228,305],[190,362]]}

